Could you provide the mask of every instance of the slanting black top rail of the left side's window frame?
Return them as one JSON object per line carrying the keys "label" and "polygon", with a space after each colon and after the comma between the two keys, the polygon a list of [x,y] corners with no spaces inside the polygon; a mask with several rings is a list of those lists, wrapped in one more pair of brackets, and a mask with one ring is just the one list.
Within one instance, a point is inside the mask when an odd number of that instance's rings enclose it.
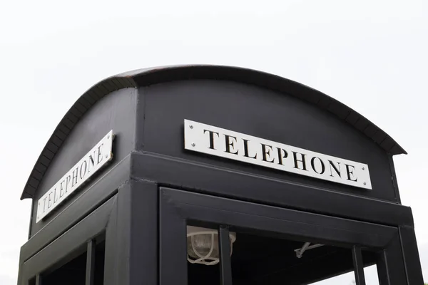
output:
{"label": "slanting black top rail of the left side's window frame", "polygon": [[[116,197],[112,197],[106,203],[98,207],[85,219],[58,237],[54,242],[44,247],[34,257],[21,262],[22,270],[19,276],[19,284],[27,285],[28,280],[41,274],[46,269],[54,269],[73,259],[86,250],[86,242],[101,234],[107,226],[108,218],[113,209]],[[61,261],[61,264],[59,263]]]}

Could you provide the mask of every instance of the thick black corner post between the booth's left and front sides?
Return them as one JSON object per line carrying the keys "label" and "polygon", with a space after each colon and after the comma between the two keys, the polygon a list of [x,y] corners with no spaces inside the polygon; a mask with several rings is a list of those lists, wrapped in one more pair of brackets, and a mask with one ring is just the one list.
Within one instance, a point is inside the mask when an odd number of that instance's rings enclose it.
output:
{"label": "thick black corner post between the booth's left and front sides", "polygon": [[104,284],[158,285],[158,186],[131,180],[117,195],[106,231]]}

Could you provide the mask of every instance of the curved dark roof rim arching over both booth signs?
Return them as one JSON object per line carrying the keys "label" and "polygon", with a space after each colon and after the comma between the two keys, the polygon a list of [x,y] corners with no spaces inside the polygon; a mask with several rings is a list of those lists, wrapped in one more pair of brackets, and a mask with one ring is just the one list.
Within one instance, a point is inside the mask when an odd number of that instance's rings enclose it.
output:
{"label": "curved dark roof rim arching over both booth signs", "polygon": [[286,78],[255,71],[248,68],[237,68],[233,66],[210,66],[210,65],[186,65],[186,66],[163,66],[158,68],[144,68],[136,71],[121,73],[111,76],[89,88],[64,115],[54,133],[46,143],[39,159],[34,165],[29,180],[26,182],[21,199],[32,198],[36,193],[44,173],[53,160],[56,152],[66,140],[78,120],[108,93],[121,88],[136,88],[148,86],[167,81],[188,79],[214,79],[238,81],[240,83],[252,84],[271,90],[280,91],[294,95],[297,98],[317,105],[319,108],[333,113],[341,120],[350,124],[353,128],[360,130],[392,155],[407,154],[387,133],[377,128],[376,125],[364,116],[355,112],[346,105],[331,98],[318,90],[302,85]]}

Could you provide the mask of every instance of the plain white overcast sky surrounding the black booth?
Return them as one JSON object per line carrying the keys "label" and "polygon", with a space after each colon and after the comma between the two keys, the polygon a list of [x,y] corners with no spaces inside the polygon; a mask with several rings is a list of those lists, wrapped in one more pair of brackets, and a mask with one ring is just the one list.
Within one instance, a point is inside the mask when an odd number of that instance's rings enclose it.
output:
{"label": "plain white overcast sky surrounding the black booth", "polygon": [[16,284],[30,214],[19,197],[68,108],[103,78],[179,63],[290,78],[397,140],[428,281],[427,53],[428,1],[1,1],[0,284]]}

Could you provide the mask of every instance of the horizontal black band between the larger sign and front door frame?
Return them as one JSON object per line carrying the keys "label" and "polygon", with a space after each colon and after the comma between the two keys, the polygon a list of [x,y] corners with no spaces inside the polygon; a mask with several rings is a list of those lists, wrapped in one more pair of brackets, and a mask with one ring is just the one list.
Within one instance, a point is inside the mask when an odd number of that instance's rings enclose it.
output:
{"label": "horizontal black band between the larger sign and front door frame", "polygon": [[379,224],[413,225],[410,208],[399,204],[345,195],[322,188],[307,187],[155,154],[133,152],[131,161],[132,177],[157,181],[161,185],[179,185],[189,190],[224,197]]}

